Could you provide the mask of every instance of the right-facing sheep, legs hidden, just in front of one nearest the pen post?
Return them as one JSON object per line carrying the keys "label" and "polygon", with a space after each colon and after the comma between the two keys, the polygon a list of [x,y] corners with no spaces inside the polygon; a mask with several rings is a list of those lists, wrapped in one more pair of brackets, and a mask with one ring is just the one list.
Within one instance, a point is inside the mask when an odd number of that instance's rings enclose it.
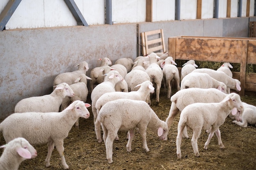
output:
{"label": "right-facing sheep, legs hidden, just in front of one nearest the pen post", "polygon": [[207,73],[192,72],[186,75],[180,85],[180,89],[185,88],[217,88],[223,93],[227,92],[226,84],[217,81]]}

